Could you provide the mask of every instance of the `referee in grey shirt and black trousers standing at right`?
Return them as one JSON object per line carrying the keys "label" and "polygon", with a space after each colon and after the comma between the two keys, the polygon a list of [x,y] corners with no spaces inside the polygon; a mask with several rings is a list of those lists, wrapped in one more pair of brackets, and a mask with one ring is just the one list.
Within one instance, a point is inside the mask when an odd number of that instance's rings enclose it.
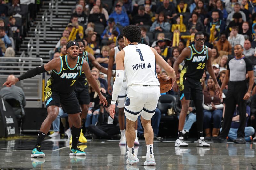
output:
{"label": "referee in grey shirt and black trousers standing at right", "polygon": [[[234,46],[234,58],[229,58],[227,61],[226,76],[221,85],[221,90],[219,96],[222,96],[222,90],[228,84],[228,92],[226,95],[226,108],[224,121],[222,126],[222,131],[220,135],[213,139],[214,142],[222,143],[226,142],[226,137],[230,130],[232,117],[238,105],[239,116],[239,128],[237,131],[237,138],[233,140],[235,143],[246,143],[244,139],[244,129],[246,125],[246,100],[251,96],[252,86],[253,86],[253,68],[252,63],[249,59],[243,57],[243,47],[240,44]],[[248,73],[250,81],[249,88],[247,90],[245,75]],[[246,92],[247,90],[247,92]]]}

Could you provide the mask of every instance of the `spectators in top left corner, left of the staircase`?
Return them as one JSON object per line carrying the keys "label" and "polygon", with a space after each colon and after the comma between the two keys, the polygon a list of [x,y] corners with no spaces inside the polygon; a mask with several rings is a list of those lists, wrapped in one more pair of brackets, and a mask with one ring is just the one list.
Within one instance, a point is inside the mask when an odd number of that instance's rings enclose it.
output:
{"label": "spectators in top left corner, left of the staircase", "polygon": [[0,0],[0,56],[8,47],[20,51],[25,27],[33,25],[40,3],[41,0]]}

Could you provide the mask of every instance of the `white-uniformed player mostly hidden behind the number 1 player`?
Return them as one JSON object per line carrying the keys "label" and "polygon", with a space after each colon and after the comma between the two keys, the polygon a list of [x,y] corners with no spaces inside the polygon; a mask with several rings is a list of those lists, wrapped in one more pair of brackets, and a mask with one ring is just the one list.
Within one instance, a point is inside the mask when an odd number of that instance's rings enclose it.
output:
{"label": "white-uniformed player mostly hidden behind the number 1 player", "polygon": [[[109,54],[109,61],[108,61],[108,93],[110,95],[112,95],[112,87],[111,87],[111,76],[112,76],[112,68],[113,68],[113,64],[114,61],[116,61],[116,55],[117,53],[122,50],[124,48],[124,38],[123,35],[120,34],[117,37],[117,42],[118,42],[118,46],[112,48],[110,50],[110,54]],[[126,145],[126,138],[125,138],[125,132],[124,132],[124,101],[126,99],[127,96],[127,80],[126,77],[124,76],[124,80],[123,80],[123,86],[120,90],[120,93],[118,95],[117,98],[117,107],[119,109],[118,112],[118,122],[119,122],[119,127],[120,127],[120,133],[121,133],[121,138],[120,138],[120,142],[119,145]],[[137,137],[137,124],[136,124],[136,128],[135,128],[135,132],[136,132],[136,138],[135,138],[135,145],[139,145],[139,140]]]}

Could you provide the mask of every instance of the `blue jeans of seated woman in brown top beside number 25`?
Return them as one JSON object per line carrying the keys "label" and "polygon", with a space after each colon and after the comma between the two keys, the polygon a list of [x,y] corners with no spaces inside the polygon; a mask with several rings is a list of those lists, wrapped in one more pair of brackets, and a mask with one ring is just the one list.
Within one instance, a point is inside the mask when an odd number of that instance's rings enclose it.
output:
{"label": "blue jeans of seated woman in brown top beside number 25", "polygon": [[203,110],[204,113],[204,129],[211,128],[211,119],[213,119],[213,128],[220,128],[222,113],[220,109],[217,110]]}

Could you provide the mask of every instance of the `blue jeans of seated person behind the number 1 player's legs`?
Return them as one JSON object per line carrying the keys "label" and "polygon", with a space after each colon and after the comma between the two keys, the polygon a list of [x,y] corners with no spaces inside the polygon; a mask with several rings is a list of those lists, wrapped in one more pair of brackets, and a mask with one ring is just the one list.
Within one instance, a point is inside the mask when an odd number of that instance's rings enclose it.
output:
{"label": "blue jeans of seated person behind the number 1 player's legs", "polygon": [[[153,132],[154,132],[154,135],[158,135],[158,128],[159,128],[159,124],[160,124],[160,119],[161,119],[161,112],[158,108],[156,108],[156,112],[155,114],[153,115],[153,117],[151,118],[151,125],[152,125],[152,128],[153,128]],[[141,124],[141,120],[140,120],[140,116],[138,117],[138,135],[142,135],[144,133],[144,129],[142,127],[142,124]]]}

